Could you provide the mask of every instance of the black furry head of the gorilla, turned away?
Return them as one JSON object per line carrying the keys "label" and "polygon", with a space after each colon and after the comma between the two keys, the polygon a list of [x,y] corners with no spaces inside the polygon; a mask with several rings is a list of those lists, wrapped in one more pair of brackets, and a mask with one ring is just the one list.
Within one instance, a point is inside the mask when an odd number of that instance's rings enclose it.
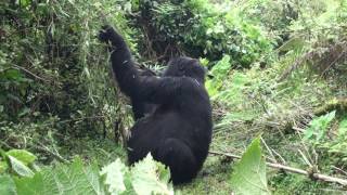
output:
{"label": "black furry head of the gorilla, turned away", "polygon": [[183,56],[170,60],[163,76],[192,77],[198,82],[204,83],[205,74],[206,69],[200,64],[198,60]]}

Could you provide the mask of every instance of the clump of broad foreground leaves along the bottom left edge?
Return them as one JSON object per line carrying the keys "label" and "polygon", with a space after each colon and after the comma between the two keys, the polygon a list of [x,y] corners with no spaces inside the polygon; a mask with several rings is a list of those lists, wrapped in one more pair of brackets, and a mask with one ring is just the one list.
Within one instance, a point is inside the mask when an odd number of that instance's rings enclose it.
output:
{"label": "clump of broad foreground leaves along the bottom left edge", "polygon": [[[16,154],[16,157],[11,155]],[[9,159],[9,172],[0,174],[0,193],[18,195],[44,194],[174,194],[168,184],[169,170],[153,160],[149,154],[130,170],[120,161],[105,166],[99,171],[97,164],[83,166],[80,158],[69,165],[59,165],[43,170],[31,170],[25,165],[35,157],[26,151],[10,151],[4,158]]]}

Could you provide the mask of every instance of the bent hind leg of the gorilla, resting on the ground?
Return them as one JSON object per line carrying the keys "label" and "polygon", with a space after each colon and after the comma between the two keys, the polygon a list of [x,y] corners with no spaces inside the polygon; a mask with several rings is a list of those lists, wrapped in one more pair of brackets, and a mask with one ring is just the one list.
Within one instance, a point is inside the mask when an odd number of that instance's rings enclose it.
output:
{"label": "bent hind leg of the gorilla, resting on the ground", "polygon": [[154,153],[156,160],[170,168],[174,184],[191,181],[197,173],[197,165],[191,148],[178,139],[167,139]]}

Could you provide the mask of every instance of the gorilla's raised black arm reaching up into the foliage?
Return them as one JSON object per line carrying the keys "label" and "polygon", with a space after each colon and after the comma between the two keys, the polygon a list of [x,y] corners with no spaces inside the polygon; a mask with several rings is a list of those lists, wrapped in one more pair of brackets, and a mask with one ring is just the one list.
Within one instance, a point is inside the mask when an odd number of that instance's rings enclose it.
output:
{"label": "gorilla's raised black arm reaching up into the foliage", "polygon": [[182,78],[140,75],[131,58],[131,53],[123,37],[112,27],[105,26],[100,40],[110,42],[112,69],[120,90],[131,99],[159,104],[176,94],[183,83]]}

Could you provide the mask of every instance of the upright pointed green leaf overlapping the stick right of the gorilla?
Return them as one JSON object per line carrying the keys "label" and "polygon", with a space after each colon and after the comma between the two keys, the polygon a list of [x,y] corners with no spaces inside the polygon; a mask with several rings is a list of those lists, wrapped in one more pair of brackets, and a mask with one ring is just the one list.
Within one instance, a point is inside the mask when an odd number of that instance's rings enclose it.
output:
{"label": "upright pointed green leaf overlapping the stick right of the gorilla", "polygon": [[231,176],[235,194],[270,194],[267,184],[266,162],[261,156],[260,138],[255,139],[235,165]]}

